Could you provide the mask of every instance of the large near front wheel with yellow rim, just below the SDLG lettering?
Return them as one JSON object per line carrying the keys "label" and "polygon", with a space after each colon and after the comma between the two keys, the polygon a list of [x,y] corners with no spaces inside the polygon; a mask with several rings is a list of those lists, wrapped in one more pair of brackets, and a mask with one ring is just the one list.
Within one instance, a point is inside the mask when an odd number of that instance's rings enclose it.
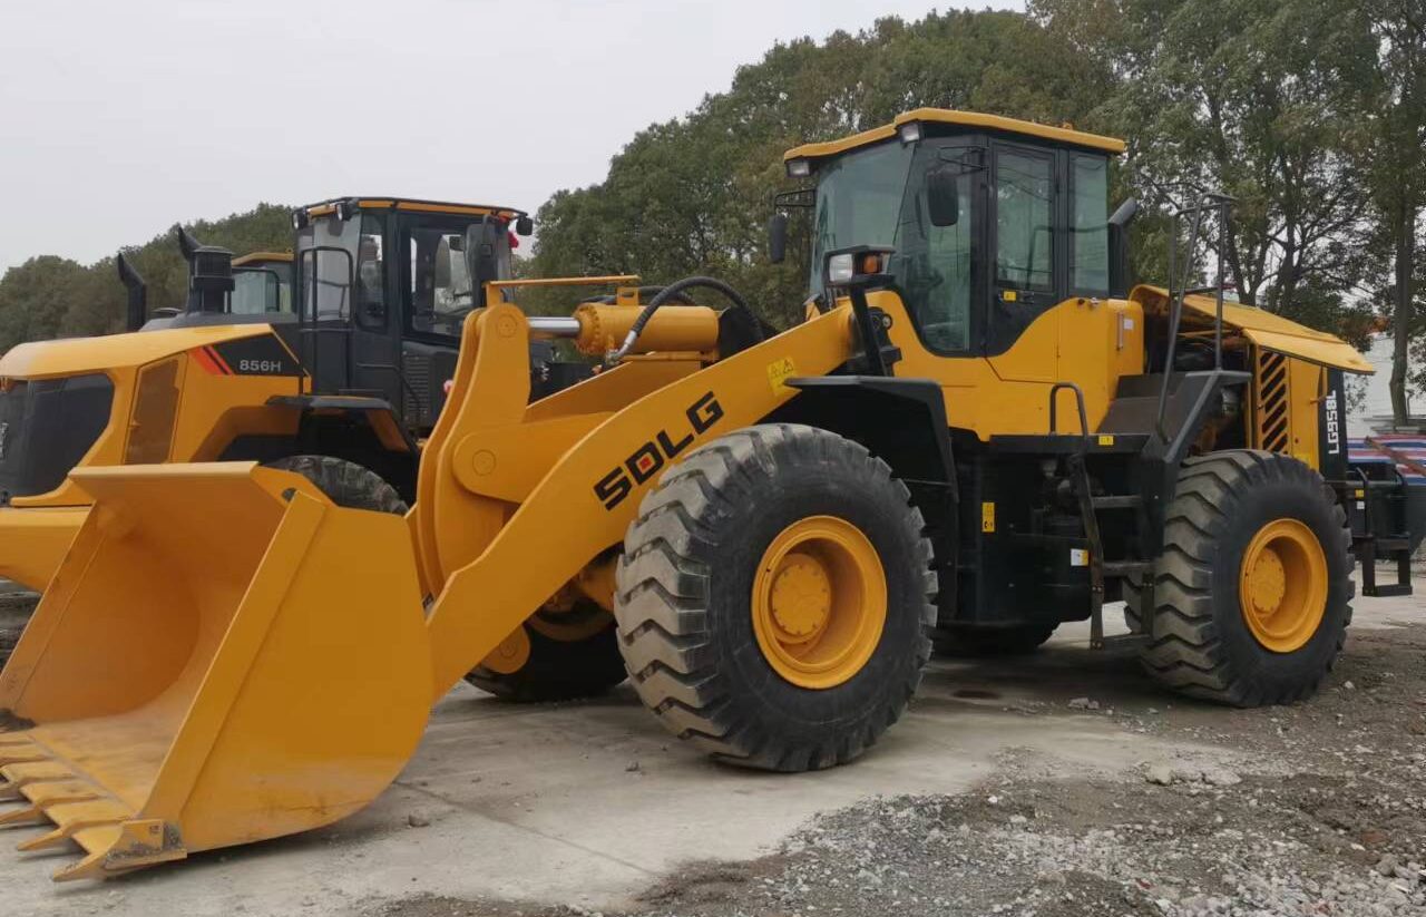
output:
{"label": "large near front wheel with yellow rim, just below the SDLG lettering", "polygon": [[[906,710],[930,657],[924,525],[886,462],[827,431],[752,426],[690,452],[643,499],[616,575],[640,699],[730,763],[799,772],[857,757]],[[827,657],[826,670],[797,667]]]}

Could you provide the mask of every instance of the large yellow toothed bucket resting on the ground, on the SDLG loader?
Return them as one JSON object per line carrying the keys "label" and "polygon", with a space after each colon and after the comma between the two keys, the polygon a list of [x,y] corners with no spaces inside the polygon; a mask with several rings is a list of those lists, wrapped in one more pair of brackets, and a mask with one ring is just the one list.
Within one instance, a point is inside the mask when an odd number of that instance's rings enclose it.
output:
{"label": "large yellow toothed bucket resting on the ground, on the SDLG loader", "polygon": [[381,794],[432,703],[406,523],[251,463],[73,478],[94,508],[0,673],[0,823],[50,829],[20,849],[113,876]]}

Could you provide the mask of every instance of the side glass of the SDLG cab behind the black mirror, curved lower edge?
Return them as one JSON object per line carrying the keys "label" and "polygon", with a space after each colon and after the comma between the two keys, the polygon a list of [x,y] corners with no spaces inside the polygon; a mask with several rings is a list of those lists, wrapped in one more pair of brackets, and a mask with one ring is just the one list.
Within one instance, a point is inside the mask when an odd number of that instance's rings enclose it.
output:
{"label": "side glass of the SDLG cab behind the black mirror, curved lower edge", "polygon": [[[928,150],[930,151],[930,150]],[[914,167],[897,231],[891,274],[927,347],[938,352],[964,352],[971,342],[974,221],[973,178],[980,173],[978,150],[945,147]],[[951,225],[934,225],[927,183],[933,174],[955,184],[957,217]]]}

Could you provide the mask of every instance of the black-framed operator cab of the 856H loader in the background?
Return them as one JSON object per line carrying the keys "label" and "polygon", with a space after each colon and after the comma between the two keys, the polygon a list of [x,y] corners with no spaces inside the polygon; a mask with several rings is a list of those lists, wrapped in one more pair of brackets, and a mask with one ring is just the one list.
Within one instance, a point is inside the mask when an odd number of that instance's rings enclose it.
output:
{"label": "black-framed operator cab of the 856H loader in the background", "polygon": [[[465,238],[493,224],[495,277],[472,282]],[[381,398],[408,426],[434,424],[455,375],[465,317],[482,280],[511,275],[532,221],[509,207],[344,197],[302,207],[295,230],[297,325],[281,328],[312,391]]]}

